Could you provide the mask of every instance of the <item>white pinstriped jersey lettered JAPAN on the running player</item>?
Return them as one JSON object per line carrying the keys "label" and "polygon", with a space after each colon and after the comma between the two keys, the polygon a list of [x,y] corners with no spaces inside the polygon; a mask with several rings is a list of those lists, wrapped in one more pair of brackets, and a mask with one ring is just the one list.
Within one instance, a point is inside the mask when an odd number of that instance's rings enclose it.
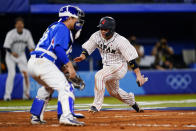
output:
{"label": "white pinstriped jersey lettered JAPAN on the running player", "polygon": [[101,32],[97,31],[82,45],[82,48],[87,50],[89,55],[98,48],[103,65],[126,63],[138,57],[130,42],[116,32],[112,38],[105,40]]}

